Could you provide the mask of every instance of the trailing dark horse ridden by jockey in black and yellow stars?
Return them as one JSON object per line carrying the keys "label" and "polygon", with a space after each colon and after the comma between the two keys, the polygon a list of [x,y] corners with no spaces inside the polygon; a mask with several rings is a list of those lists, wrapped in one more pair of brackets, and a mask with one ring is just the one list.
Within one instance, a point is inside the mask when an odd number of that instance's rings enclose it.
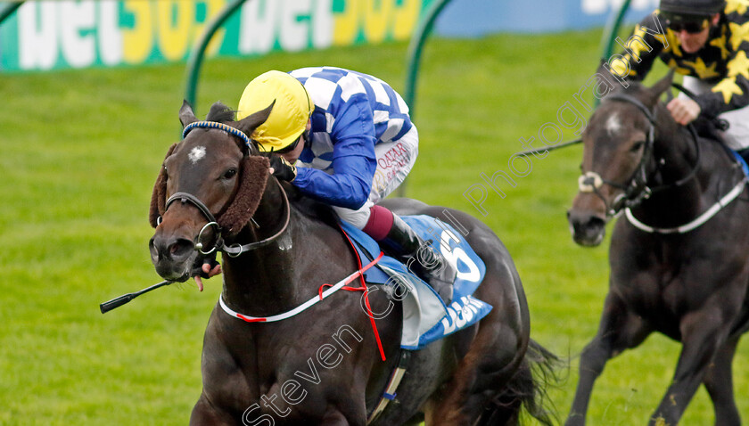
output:
{"label": "trailing dark horse ridden by jockey in black and yellow stars", "polygon": [[568,212],[575,242],[597,245],[606,221],[625,217],[613,226],[609,292],[580,357],[568,425],[584,424],[606,361],[651,332],[682,348],[649,424],[677,424],[701,383],[715,424],[740,424],[731,364],[749,323],[745,176],[720,142],[671,119],[659,102],[671,77],[608,94],[582,135],[580,193]]}

